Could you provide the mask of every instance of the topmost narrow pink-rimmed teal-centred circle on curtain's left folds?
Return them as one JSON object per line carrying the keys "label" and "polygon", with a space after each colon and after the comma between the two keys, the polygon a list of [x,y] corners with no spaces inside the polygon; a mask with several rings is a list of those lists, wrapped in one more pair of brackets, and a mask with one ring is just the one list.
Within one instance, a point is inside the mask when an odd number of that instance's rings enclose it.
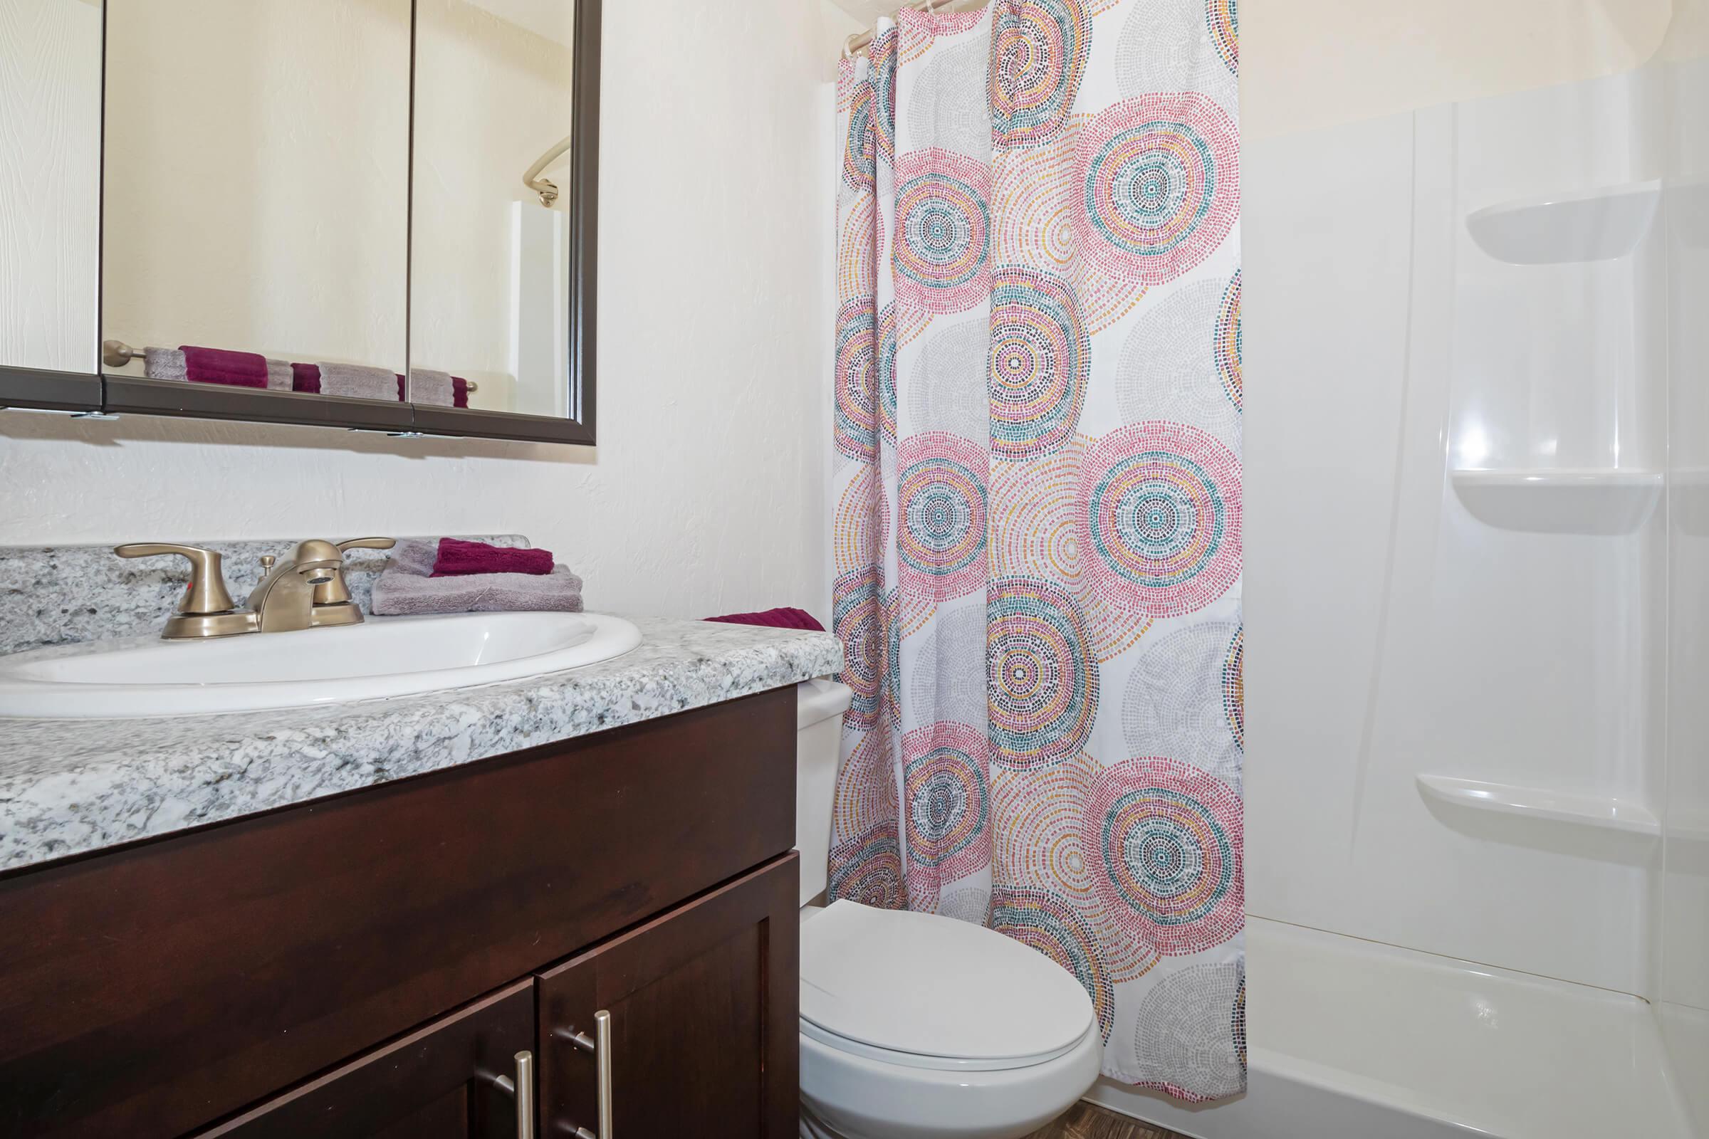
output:
{"label": "topmost narrow pink-rimmed teal-centred circle on curtain's left folds", "polygon": [[986,297],[991,171],[952,150],[916,150],[896,171],[896,295],[925,312]]}

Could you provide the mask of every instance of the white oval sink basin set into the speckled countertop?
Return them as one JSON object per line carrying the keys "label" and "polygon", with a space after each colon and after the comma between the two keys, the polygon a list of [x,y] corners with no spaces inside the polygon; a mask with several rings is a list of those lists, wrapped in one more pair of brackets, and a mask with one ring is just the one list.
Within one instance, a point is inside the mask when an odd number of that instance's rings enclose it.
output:
{"label": "white oval sink basin set into the speckled countertop", "polygon": [[641,630],[598,613],[374,616],[212,640],[96,640],[0,657],[0,716],[202,716],[523,680],[607,661]]}

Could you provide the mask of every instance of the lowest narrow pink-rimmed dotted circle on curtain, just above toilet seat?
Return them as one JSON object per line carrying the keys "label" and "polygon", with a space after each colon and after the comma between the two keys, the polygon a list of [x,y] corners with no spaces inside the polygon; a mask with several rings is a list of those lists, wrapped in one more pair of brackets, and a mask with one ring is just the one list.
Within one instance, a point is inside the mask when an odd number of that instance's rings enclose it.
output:
{"label": "lowest narrow pink-rimmed dotted circle on curtain, just above toilet seat", "polygon": [[931,724],[902,738],[907,861],[943,881],[991,861],[986,750],[984,731],[967,724]]}

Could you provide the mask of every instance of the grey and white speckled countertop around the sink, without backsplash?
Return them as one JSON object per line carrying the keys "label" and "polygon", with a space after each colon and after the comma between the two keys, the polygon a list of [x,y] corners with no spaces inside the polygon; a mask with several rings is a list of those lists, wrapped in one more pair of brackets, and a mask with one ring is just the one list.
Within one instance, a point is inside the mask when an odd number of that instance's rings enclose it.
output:
{"label": "grey and white speckled countertop around the sink, without backsplash", "polygon": [[0,869],[291,806],[793,685],[831,634],[637,618],[643,642],[567,673],[325,709],[0,719]]}

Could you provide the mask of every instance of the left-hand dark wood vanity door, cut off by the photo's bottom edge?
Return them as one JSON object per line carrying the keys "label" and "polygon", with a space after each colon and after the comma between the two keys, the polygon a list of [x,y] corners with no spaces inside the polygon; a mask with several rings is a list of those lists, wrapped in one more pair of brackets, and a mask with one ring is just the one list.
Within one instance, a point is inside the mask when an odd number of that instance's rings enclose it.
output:
{"label": "left-hand dark wood vanity door, cut off by the photo's bottom edge", "polygon": [[533,978],[518,982],[203,1139],[509,1139],[518,1134],[516,1054],[535,1047],[533,997]]}

